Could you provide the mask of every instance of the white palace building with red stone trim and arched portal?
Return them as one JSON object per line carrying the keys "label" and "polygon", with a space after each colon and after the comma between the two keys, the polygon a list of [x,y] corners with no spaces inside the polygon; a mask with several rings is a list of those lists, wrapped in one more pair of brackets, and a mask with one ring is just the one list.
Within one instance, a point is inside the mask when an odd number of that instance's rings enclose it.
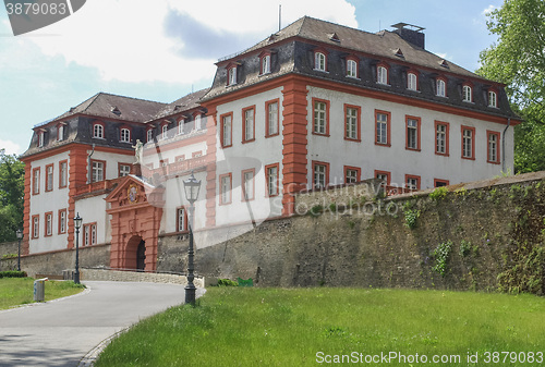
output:
{"label": "white palace building with red stone trim and arched portal", "polygon": [[[34,127],[24,252],[110,244],[110,267],[155,270],[187,231],[183,180],[207,229],[295,213],[302,189],[378,178],[423,189],[512,171],[504,85],[425,49],[423,28],[377,34],[302,17],[220,59],[213,85],[171,103],[99,93]],[[135,164],[135,146],[144,143]],[[211,241],[211,240],[210,240]]]}

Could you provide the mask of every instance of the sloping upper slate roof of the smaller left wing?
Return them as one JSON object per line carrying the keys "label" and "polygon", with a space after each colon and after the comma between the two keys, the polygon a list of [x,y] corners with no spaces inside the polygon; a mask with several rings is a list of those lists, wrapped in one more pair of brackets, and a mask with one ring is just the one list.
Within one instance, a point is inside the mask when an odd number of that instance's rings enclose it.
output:
{"label": "sloping upper slate roof of the smaller left wing", "polygon": [[130,122],[146,122],[153,120],[165,106],[165,103],[145,99],[98,93],[52,121],[63,120],[74,114],[87,114]]}

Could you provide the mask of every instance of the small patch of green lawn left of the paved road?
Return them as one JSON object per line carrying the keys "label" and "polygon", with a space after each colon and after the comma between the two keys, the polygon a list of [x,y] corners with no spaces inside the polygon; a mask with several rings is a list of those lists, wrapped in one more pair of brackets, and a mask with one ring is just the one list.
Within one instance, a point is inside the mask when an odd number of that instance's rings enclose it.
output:
{"label": "small patch of green lawn left of the paved road", "polygon": [[[47,281],[46,301],[65,297],[83,291],[83,285],[77,286],[72,281]],[[0,279],[0,309],[17,305],[34,303],[33,278],[2,278]]]}

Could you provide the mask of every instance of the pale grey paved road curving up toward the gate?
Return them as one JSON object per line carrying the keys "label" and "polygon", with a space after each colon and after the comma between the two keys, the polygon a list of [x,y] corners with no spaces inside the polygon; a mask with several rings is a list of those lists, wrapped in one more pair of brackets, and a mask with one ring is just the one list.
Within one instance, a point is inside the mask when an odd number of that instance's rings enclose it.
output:
{"label": "pale grey paved road curving up toward the gate", "polygon": [[185,297],[175,284],[84,283],[84,294],[0,311],[0,367],[76,367],[105,339]]}

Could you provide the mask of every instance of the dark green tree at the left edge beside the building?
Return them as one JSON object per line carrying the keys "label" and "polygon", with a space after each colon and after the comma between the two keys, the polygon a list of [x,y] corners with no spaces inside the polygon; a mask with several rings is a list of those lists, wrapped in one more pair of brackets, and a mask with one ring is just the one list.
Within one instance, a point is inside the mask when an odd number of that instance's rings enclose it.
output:
{"label": "dark green tree at the left edge beside the building", "polygon": [[25,166],[0,149],[0,243],[14,241],[23,227]]}

